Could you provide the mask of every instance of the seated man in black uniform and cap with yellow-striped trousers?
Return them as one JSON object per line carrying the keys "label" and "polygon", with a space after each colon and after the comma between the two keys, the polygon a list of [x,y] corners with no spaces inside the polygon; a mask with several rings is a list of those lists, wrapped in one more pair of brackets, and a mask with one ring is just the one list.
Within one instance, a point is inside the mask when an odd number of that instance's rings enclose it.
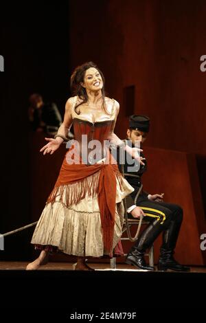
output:
{"label": "seated man in black uniform and cap with yellow-striped trousers", "polygon": [[[129,129],[127,130],[127,140],[130,140],[133,146],[135,146],[135,141],[142,144],[146,140],[149,127],[150,120],[148,117],[144,115],[131,115]],[[144,158],[143,153],[141,153],[141,157]],[[119,159],[119,155],[117,159]],[[134,192],[126,199],[127,211],[135,218],[138,218],[143,214],[145,216],[144,220],[149,221],[150,224],[141,232],[135,245],[130,249],[130,252],[126,257],[126,263],[141,269],[153,270],[153,267],[146,265],[144,254],[146,249],[150,248],[159,234],[163,232],[163,243],[160,250],[158,269],[161,271],[166,271],[167,269],[189,271],[190,267],[180,265],[173,258],[174,248],[183,221],[183,210],[179,205],[163,202],[163,194],[151,195],[143,190],[141,190],[139,197],[137,197],[137,201],[135,201],[137,192],[139,191],[139,188],[142,187],[141,175],[146,171],[147,163],[146,159],[143,159],[144,165],[141,164],[139,166],[134,159],[133,170],[130,172],[129,167],[131,167],[131,165],[128,164],[127,160],[128,159],[125,158],[124,165],[122,165],[124,167],[125,178],[130,185],[135,188]],[[131,177],[129,175],[137,176]]]}

